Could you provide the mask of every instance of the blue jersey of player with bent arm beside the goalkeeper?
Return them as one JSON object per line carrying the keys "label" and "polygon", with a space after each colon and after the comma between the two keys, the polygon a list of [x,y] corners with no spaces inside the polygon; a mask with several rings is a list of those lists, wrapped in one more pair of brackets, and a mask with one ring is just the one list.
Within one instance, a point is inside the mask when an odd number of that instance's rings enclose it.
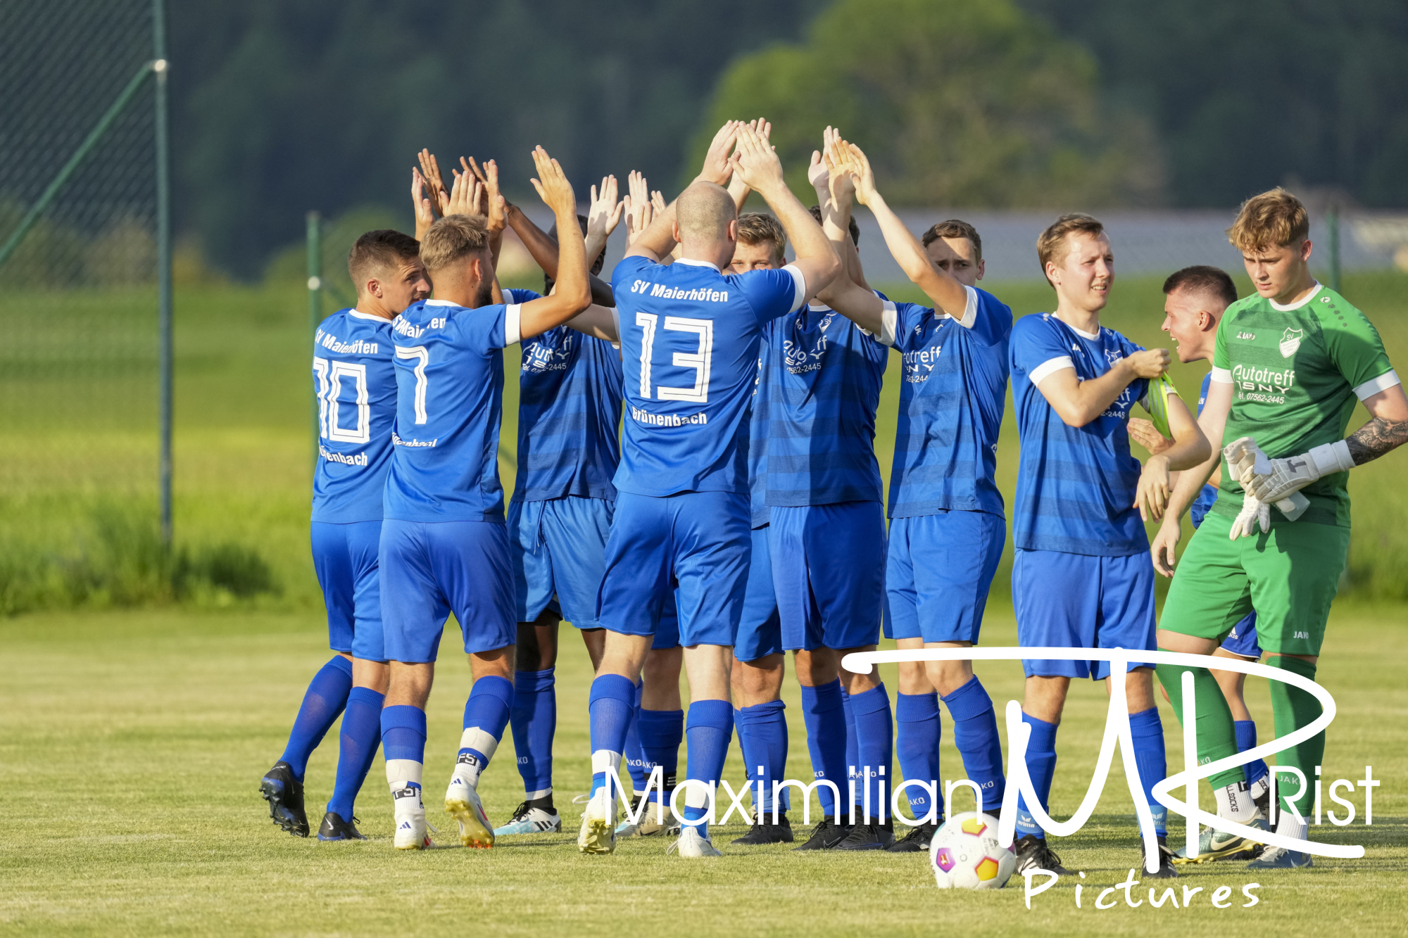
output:
{"label": "blue jersey of player with bent arm beside the goalkeeper", "polygon": [[1077,332],[1050,313],[1022,317],[1012,327],[1012,404],[1021,456],[1012,544],[1026,551],[1129,556],[1149,549],[1135,504],[1139,461],[1129,454],[1129,408],[1149,387],[1135,379],[1084,427],[1067,427],[1036,386],[1074,368],[1091,380],[1121,358],[1140,351],[1101,327]]}

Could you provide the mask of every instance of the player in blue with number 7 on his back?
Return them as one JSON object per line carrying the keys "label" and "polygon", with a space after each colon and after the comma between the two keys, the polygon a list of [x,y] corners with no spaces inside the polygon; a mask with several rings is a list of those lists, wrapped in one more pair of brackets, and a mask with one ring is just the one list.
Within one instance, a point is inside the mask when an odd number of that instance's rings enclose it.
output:
{"label": "player in blue with number 7 on his back", "polygon": [[466,846],[494,842],[476,787],[513,708],[517,638],[498,483],[501,349],[560,325],[591,299],[572,186],[541,146],[534,163],[534,187],[559,220],[553,294],[493,304],[489,223],[451,214],[421,245],[435,296],[407,308],[394,330],[396,448],[382,523],[382,610],[391,666],[382,745],[397,849],[428,844],[421,799],[425,701],[449,613],[459,621],[474,684],[445,810],[459,821]]}

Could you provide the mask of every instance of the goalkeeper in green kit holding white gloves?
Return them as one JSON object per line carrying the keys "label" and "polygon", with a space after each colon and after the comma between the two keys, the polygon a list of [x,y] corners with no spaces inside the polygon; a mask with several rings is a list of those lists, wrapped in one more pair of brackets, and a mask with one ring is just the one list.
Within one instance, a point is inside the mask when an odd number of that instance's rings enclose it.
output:
{"label": "goalkeeper in green kit holding white gloves", "polygon": [[[1180,475],[1150,551],[1155,569],[1173,576],[1178,520],[1225,461],[1218,500],[1169,589],[1159,648],[1211,655],[1255,607],[1266,663],[1314,679],[1349,552],[1349,470],[1408,439],[1408,399],[1364,314],[1311,277],[1308,235],[1305,207],[1283,189],[1249,199],[1228,230],[1256,294],[1228,307],[1218,325],[1198,418],[1224,448]],[[1356,400],[1371,420],[1346,439]],[[1207,668],[1159,665],[1174,714],[1183,718],[1186,670],[1194,675],[1198,763],[1236,755],[1232,713]],[[1283,738],[1321,714],[1309,693],[1284,682],[1271,682],[1271,708]],[[1321,732],[1277,755],[1277,834],[1305,839],[1324,752]],[[1219,817],[1253,817],[1240,766],[1209,782]],[[1267,848],[1250,868],[1309,865],[1309,853]]]}

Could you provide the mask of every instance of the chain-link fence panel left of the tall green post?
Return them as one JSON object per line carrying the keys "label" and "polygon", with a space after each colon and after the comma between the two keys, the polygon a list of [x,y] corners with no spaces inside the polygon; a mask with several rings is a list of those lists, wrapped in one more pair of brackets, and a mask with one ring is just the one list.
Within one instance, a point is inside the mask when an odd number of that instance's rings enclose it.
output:
{"label": "chain-link fence panel left of the tall green post", "polygon": [[0,594],[104,511],[169,535],[163,13],[0,4]]}

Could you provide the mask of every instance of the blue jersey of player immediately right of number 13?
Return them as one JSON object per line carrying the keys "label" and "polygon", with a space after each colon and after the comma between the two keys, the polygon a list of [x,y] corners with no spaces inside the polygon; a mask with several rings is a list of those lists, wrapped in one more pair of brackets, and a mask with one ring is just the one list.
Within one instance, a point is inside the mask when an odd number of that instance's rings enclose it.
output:
{"label": "blue jersey of player immediately right of number 13", "polygon": [[773,320],[766,337],[767,504],[880,501],[876,407],[890,349],[819,303]]}

